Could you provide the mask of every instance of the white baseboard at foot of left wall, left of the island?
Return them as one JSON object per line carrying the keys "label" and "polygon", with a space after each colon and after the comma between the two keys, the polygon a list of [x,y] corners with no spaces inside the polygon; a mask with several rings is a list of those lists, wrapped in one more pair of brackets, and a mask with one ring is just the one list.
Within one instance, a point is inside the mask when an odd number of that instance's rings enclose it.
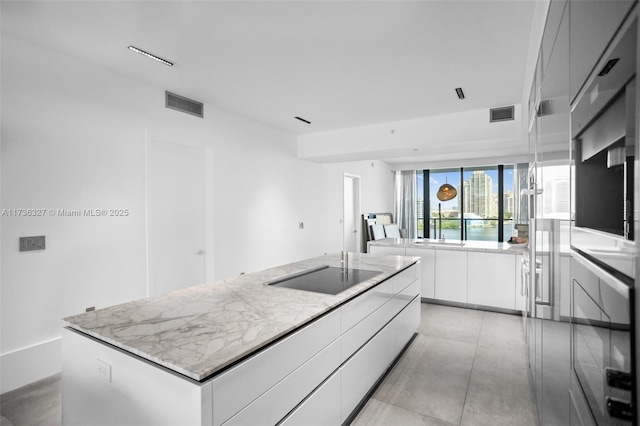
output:
{"label": "white baseboard at foot of left wall, left of the island", "polygon": [[0,355],[0,394],[59,373],[62,338]]}

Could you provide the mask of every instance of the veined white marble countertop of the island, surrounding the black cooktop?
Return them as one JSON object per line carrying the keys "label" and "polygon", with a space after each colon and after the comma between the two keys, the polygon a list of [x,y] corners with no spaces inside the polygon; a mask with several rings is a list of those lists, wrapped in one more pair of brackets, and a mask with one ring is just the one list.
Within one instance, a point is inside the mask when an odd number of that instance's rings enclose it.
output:
{"label": "veined white marble countertop of the island, surrounding the black cooktop", "polygon": [[64,318],[66,326],[202,381],[415,263],[417,257],[349,253],[349,268],[382,271],[337,295],[269,286],[321,256],[162,296]]}

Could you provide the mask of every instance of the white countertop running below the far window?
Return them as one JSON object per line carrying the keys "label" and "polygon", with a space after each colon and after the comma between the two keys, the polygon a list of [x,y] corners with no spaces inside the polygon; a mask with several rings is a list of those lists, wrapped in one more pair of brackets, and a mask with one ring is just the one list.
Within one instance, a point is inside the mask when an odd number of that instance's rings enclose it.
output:
{"label": "white countertop running below the far window", "polygon": [[404,247],[404,248],[428,248],[437,250],[466,250],[497,253],[519,254],[527,251],[527,245],[512,245],[509,243],[499,243],[497,241],[460,241],[445,240],[440,242],[437,239],[409,239],[409,238],[385,238],[382,240],[369,241],[370,246],[383,247]]}

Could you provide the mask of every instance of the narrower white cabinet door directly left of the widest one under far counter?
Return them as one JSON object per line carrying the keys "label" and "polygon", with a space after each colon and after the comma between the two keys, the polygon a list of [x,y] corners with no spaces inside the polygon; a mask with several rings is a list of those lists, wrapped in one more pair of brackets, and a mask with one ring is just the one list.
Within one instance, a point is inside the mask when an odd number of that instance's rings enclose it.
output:
{"label": "narrower white cabinet door directly left of the widest one under far counter", "polygon": [[436,250],[435,298],[467,303],[467,252]]}

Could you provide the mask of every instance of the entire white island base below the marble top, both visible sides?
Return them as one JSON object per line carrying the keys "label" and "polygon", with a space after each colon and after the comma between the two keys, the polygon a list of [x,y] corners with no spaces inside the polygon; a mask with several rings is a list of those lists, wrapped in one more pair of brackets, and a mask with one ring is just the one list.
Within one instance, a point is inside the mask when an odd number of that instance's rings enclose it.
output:
{"label": "entire white island base below the marble top, both visible sides", "polygon": [[198,382],[63,330],[63,425],[336,425],[420,323],[420,264]]}

